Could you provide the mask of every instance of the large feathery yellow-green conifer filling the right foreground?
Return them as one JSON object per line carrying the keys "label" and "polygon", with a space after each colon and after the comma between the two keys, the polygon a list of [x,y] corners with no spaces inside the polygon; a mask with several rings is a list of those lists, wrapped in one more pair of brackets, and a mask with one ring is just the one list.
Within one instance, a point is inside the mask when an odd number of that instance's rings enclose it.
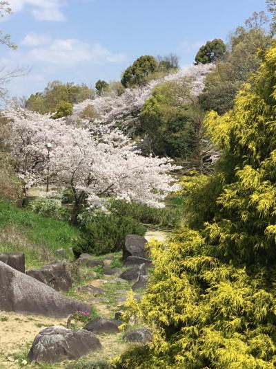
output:
{"label": "large feathery yellow-green conifer filling the right foreground", "polygon": [[206,118],[219,167],[184,181],[190,228],[151,245],[148,293],[128,315],[153,325],[154,339],[117,368],[275,368],[275,100],[276,44],[233,110]]}

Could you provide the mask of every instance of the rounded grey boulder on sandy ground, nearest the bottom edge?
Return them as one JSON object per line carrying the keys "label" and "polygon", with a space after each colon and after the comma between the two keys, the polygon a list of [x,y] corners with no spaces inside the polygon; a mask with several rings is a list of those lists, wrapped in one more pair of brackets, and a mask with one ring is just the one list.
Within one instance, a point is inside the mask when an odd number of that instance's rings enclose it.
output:
{"label": "rounded grey boulder on sandy ground, nearest the bottom edge", "polygon": [[36,363],[60,363],[79,359],[101,348],[97,336],[88,330],[50,327],[37,334],[28,359]]}

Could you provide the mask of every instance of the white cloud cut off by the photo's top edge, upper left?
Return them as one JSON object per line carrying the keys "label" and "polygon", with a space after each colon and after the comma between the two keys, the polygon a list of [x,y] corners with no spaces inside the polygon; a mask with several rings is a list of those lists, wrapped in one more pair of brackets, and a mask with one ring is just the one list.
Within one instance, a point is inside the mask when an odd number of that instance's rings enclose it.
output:
{"label": "white cloud cut off by the photo's top edge, upper left", "polygon": [[65,16],[61,8],[66,0],[9,0],[13,12],[29,8],[35,19],[39,21],[63,21]]}

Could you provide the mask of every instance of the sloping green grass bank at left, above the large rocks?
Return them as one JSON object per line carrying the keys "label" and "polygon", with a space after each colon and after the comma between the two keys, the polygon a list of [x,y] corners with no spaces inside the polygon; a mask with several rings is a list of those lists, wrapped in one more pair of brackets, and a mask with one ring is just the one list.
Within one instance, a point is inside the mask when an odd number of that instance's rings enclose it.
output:
{"label": "sloping green grass bank at left, above the large rocks", "polygon": [[57,249],[72,247],[79,238],[77,228],[0,201],[0,253],[23,251],[26,267],[41,267],[55,260]]}

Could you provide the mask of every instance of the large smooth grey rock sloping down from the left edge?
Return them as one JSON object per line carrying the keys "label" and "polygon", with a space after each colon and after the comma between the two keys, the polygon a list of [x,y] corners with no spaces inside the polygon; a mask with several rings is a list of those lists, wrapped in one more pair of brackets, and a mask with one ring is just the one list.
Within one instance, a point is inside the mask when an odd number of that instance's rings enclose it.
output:
{"label": "large smooth grey rock sloping down from the left edge", "polygon": [[6,312],[66,318],[79,310],[91,309],[3,262],[0,262],[0,291],[0,310]]}

